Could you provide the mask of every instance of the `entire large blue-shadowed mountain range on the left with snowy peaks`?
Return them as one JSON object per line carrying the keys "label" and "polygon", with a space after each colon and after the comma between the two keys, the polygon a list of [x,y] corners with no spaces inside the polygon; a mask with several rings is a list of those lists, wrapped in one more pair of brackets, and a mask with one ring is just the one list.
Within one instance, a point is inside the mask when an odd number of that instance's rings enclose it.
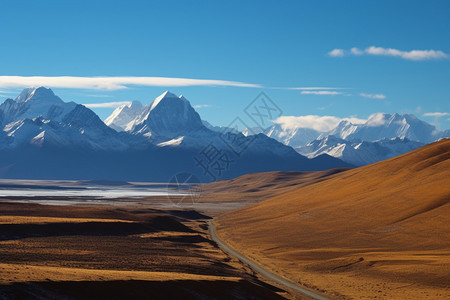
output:
{"label": "entire large blue-shadowed mountain range on the left with snowy peaks", "polygon": [[351,166],[326,154],[306,158],[264,134],[204,124],[186,98],[170,92],[119,107],[103,122],[50,89],[25,89],[0,105],[0,177],[168,182],[188,172],[212,181]]}

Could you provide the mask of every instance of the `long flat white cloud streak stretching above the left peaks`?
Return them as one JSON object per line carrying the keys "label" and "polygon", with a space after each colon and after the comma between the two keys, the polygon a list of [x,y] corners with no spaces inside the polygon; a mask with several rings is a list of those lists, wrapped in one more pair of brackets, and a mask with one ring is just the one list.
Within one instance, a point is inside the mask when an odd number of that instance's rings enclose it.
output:
{"label": "long flat white cloud streak stretching above the left peaks", "polygon": [[262,88],[259,84],[236,81],[172,77],[0,76],[0,88],[37,86],[110,91],[126,89],[129,86],[234,86]]}

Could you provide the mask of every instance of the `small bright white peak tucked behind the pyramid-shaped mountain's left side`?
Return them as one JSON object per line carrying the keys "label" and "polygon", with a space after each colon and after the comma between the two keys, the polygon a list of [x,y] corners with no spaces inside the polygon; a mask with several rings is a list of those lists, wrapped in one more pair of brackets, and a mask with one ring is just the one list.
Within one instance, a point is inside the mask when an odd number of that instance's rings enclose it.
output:
{"label": "small bright white peak tucked behind the pyramid-shaped mountain's left side", "polygon": [[116,131],[129,131],[134,119],[142,113],[142,110],[143,106],[139,101],[121,105],[106,118],[105,124]]}

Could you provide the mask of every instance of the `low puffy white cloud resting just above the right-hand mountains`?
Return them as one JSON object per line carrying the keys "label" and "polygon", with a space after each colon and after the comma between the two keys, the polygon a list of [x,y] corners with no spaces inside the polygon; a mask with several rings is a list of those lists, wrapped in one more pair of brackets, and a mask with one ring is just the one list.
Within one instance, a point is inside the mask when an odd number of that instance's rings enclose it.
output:
{"label": "low puffy white cloud resting just above the right-hand mountains", "polygon": [[339,118],[335,116],[317,116],[317,115],[307,115],[307,116],[281,116],[274,120],[276,124],[280,124],[283,129],[294,129],[294,128],[310,128],[319,132],[326,132],[335,128],[341,121],[350,121],[353,124],[362,124],[366,120],[359,119],[355,117],[350,118]]}

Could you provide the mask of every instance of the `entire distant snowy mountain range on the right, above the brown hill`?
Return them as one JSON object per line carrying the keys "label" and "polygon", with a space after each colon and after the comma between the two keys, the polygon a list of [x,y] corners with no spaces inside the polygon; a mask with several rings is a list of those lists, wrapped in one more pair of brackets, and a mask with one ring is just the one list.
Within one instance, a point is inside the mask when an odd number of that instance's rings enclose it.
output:
{"label": "entire distant snowy mountain range on the right, above the brown hill", "polygon": [[392,158],[450,137],[449,130],[439,131],[414,115],[386,113],[373,114],[361,124],[343,120],[327,132],[280,124],[261,131],[306,157],[328,154],[355,166]]}

